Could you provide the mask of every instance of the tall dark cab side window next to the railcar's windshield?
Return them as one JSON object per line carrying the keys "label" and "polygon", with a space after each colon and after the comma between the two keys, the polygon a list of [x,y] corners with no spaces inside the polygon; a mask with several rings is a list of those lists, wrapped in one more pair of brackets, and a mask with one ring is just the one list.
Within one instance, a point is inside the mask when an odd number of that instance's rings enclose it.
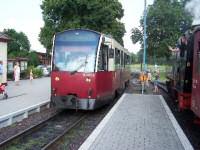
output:
{"label": "tall dark cab side window next to the railcar's windshield", "polygon": [[99,51],[99,60],[98,60],[98,70],[99,71],[107,71],[108,70],[108,46],[101,45]]}

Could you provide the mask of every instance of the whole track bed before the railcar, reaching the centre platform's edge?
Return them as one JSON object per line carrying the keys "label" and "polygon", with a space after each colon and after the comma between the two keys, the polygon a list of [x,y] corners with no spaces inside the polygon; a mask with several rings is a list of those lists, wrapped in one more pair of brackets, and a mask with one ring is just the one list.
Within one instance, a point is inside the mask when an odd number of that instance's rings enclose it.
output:
{"label": "whole track bed before the railcar, reaching the centre platform's edge", "polygon": [[[76,112],[73,110],[68,110],[65,112],[60,112],[59,114],[56,114],[45,121],[1,142],[0,149],[54,150],[58,149],[59,147],[66,147],[66,145],[68,147],[71,145],[76,145],[76,147],[79,147],[81,142],[83,142],[93,131],[93,129],[95,129],[95,127],[112,108],[118,98],[119,97],[117,97],[110,105],[101,108],[100,110],[91,112]],[[83,134],[81,133],[82,135],[80,136],[82,139],[79,139],[78,137],[80,135],[79,132],[83,132]],[[74,139],[71,139],[71,136],[74,136],[72,134],[76,136]],[[81,141],[78,142],[78,144],[76,143],[77,139],[78,141]]]}

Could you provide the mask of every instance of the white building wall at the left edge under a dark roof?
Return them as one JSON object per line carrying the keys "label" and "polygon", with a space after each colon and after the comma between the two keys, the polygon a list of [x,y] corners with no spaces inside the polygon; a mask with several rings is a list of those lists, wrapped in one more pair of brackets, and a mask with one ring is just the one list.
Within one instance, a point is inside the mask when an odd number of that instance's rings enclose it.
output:
{"label": "white building wall at the left edge under a dark roof", "polygon": [[3,62],[2,83],[7,82],[7,43],[0,42],[0,60]]}

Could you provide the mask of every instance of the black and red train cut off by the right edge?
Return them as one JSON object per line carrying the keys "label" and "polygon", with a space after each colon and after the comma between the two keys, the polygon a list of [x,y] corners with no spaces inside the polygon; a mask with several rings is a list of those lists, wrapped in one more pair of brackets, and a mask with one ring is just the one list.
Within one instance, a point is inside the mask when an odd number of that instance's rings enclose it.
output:
{"label": "black and red train cut off by the right edge", "polygon": [[200,26],[194,26],[184,36],[187,42],[180,42],[180,51],[175,52],[167,86],[180,110],[191,109],[200,118]]}

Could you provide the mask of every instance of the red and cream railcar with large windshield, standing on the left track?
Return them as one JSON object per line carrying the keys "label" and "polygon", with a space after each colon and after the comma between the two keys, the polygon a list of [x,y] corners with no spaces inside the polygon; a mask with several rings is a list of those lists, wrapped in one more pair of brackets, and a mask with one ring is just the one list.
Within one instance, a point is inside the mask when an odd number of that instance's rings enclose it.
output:
{"label": "red and cream railcar with large windshield, standing on the left track", "polygon": [[112,37],[86,29],[54,37],[51,104],[93,110],[109,103],[130,79],[129,53]]}

